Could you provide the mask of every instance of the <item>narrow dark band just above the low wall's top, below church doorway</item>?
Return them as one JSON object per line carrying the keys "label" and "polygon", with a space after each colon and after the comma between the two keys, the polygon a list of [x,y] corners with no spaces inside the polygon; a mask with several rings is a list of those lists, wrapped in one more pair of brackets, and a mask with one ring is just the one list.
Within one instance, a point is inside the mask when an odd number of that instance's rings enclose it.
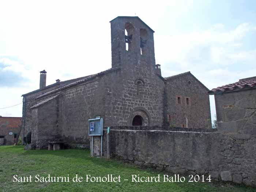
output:
{"label": "narrow dark band just above the low wall's top, below church doorway", "polygon": [[[107,127],[105,127],[107,128]],[[217,132],[217,129],[203,128],[181,128],[181,127],[163,127],[163,126],[111,126],[111,129],[117,130],[158,130],[158,131],[189,131],[189,132]]]}

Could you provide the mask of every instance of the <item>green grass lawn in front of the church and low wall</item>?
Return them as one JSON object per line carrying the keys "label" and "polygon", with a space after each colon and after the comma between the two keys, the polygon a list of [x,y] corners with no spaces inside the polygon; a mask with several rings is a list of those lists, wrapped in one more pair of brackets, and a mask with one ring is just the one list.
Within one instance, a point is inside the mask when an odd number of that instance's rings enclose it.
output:
{"label": "green grass lawn in front of the church and low wall", "polygon": [[[13,176],[32,176],[32,182],[13,182]],[[83,182],[34,182],[35,175],[46,177],[78,174]],[[121,176],[121,182],[85,182],[86,175]],[[132,182],[131,175],[157,176],[161,182]],[[244,185],[221,182],[162,182],[168,174],[153,169],[143,169],[122,161],[90,157],[89,150],[30,150],[23,146],[0,146],[0,191],[256,191]],[[128,179],[128,181],[124,181]]]}

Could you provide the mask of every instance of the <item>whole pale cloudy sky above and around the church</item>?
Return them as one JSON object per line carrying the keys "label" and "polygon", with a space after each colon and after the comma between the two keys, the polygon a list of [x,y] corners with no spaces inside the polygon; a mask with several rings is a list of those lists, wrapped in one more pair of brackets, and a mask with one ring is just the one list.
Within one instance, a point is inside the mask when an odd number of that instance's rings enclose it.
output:
{"label": "whole pale cloudy sky above and around the church", "polygon": [[155,31],[163,77],[191,71],[211,90],[256,76],[255,0],[0,0],[0,116],[22,116],[21,95],[39,88],[43,69],[49,85],[111,68],[117,16]]}

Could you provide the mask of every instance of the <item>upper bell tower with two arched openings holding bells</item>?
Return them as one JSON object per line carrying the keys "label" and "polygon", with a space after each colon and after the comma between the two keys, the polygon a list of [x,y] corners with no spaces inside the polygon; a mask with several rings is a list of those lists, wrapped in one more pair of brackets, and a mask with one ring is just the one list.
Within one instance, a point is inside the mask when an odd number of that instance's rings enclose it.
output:
{"label": "upper bell tower with two arched openings holding bells", "polygon": [[110,21],[112,67],[145,65],[155,69],[154,32],[138,16]]}

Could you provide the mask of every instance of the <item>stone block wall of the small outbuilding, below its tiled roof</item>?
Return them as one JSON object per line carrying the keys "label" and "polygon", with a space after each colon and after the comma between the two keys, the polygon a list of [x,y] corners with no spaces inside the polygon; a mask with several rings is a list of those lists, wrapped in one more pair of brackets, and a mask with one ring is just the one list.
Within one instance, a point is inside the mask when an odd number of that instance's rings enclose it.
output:
{"label": "stone block wall of the small outbuilding, below its tiled roof", "polygon": [[215,94],[219,132],[256,135],[256,89]]}

